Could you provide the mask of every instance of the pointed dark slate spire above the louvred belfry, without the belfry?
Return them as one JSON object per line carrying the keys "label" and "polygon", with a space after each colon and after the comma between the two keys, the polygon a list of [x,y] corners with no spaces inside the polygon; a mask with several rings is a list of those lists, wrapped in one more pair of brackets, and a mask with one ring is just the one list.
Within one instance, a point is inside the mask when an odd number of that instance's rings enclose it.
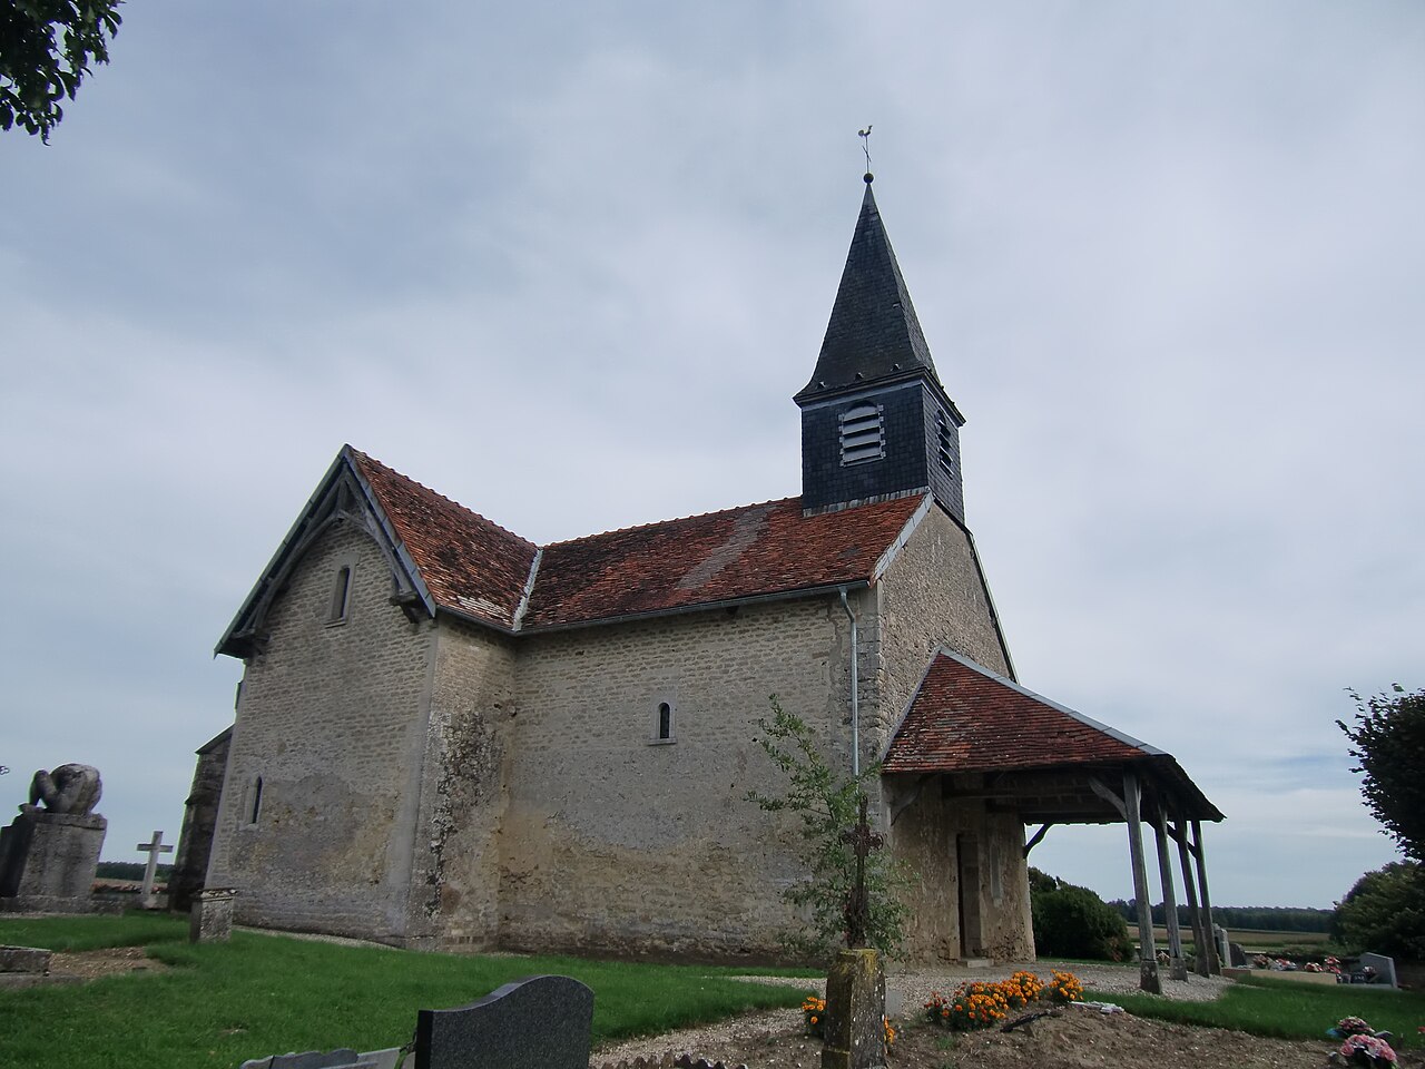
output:
{"label": "pointed dark slate spire above the louvred belfry, without the belfry", "polygon": [[918,373],[929,375],[939,383],[868,174],[861,217],[841,272],[817,369],[795,401],[802,403],[858,389],[866,382]]}

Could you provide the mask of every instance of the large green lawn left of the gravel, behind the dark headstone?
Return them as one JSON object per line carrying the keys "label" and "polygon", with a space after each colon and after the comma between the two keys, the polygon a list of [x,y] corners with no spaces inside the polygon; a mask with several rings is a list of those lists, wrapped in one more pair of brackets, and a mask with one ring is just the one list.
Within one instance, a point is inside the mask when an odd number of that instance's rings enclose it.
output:
{"label": "large green lawn left of the gravel, behind the dark headstone", "polygon": [[398,1046],[415,1032],[418,1009],[465,1005],[539,974],[593,988],[594,1043],[797,1006],[804,995],[734,981],[745,969],[732,968],[413,954],[251,932],[234,932],[227,944],[187,939],[187,918],[164,915],[0,919],[3,944],[142,945],[174,966],[84,985],[0,989],[0,1066],[235,1069],[286,1050]]}

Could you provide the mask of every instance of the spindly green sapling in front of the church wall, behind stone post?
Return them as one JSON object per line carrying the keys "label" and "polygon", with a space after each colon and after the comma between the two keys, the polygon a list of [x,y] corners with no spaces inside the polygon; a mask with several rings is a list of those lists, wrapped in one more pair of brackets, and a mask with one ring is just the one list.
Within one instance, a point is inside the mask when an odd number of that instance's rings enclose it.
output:
{"label": "spindly green sapling in front of the church wall, behind stone post", "polygon": [[866,801],[865,783],[879,774],[868,768],[859,777],[831,771],[807,723],[771,697],[772,716],[757,725],[757,744],[788,778],[785,794],[748,791],[747,800],[767,812],[794,812],[801,821],[801,861],[807,875],[782,891],[797,909],[809,912],[805,929],[787,932],[788,949],[825,958],[835,944],[852,944],[848,922],[852,912],[865,918],[865,944],[895,954],[905,938],[906,908],[896,891],[905,884],[899,867],[884,849],[864,852],[864,909],[855,909],[856,849],[854,830],[859,827]]}

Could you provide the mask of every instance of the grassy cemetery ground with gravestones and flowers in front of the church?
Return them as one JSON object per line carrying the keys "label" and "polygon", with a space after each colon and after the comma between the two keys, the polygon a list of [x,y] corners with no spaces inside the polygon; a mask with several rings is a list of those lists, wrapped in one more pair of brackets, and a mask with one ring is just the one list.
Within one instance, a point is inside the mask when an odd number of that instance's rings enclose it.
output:
{"label": "grassy cemetery ground with gravestones and flowers in front of the church", "polygon": [[1208,954],[1174,944],[1174,958],[1221,965],[1164,969],[1161,995],[1141,991],[1151,925],[1143,959],[1127,965],[1049,961],[1009,976],[1016,966],[1003,962],[925,971],[884,958],[871,945],[888,916],[884,841],[855,781],[844,791],[849,827],[824,834],[845,847],[849,884],[831,902],[845,946],[822,971],[235,931],[232,888],[195,889],[187,918],[160,908],[155,871],[172,848],[157,830],[134,848],[145,858],[140,908],[115,915],[88,892],[104,828],[97,770],[41,771],[0,852],[0,1055],[43,1066],[63,1052],[73,1069],[111,1065],[117,1052],[155,1069],[1070,1069],[1087,1050],[1092,1063],[1160,1069],[1325,1065],[1332,1052],[1375,1056],[1382,1069],[1385,1052],[1396,1066],[1425,1065],[1425,996],[1401,989],[1387,955],[1322,955],[1315,968],[1248,961],[1218,926]]}

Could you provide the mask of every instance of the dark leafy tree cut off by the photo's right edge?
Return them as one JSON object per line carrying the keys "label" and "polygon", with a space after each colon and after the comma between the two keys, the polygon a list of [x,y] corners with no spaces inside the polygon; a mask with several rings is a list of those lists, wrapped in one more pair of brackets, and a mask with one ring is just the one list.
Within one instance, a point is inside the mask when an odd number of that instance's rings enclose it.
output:
{"label": "dark leafy tree cut off by the photo's right edge", "polygon": [[1362,773],[1361,794],[1371,814],[1395,837],[1405,857],[1425,861],[1425,690],[1355,700],[1355,725],[1338,720]]}

